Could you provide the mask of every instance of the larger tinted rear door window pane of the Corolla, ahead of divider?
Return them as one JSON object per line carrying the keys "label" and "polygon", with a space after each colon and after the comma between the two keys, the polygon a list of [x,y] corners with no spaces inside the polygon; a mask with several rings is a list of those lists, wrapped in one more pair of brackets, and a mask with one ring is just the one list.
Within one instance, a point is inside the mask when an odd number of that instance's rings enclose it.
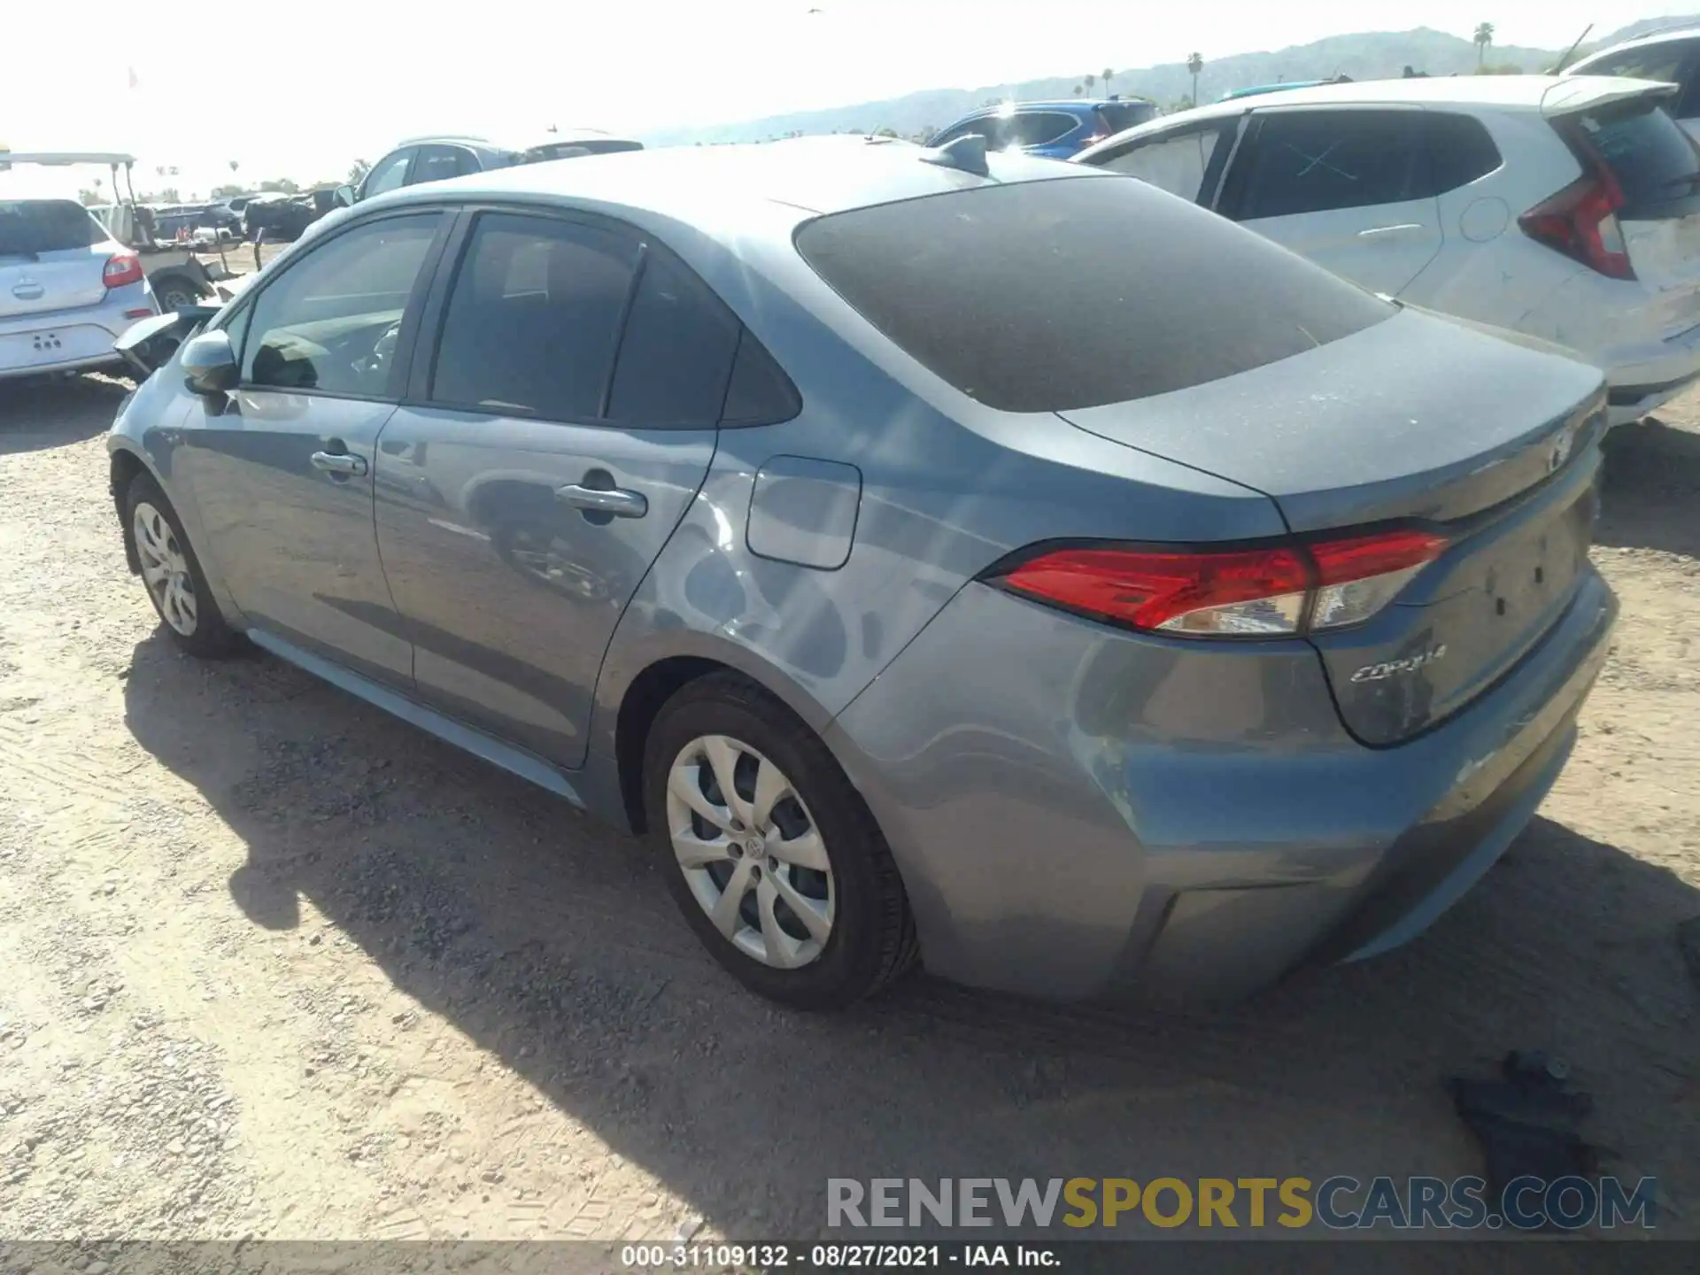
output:
{"label": "larger tinted rear door window pane of the Corolla, ahead of divider", "polygon": [[449,294],[432,400],[600,420],[636,265],[636,241],[614,231],[481,214]]}

